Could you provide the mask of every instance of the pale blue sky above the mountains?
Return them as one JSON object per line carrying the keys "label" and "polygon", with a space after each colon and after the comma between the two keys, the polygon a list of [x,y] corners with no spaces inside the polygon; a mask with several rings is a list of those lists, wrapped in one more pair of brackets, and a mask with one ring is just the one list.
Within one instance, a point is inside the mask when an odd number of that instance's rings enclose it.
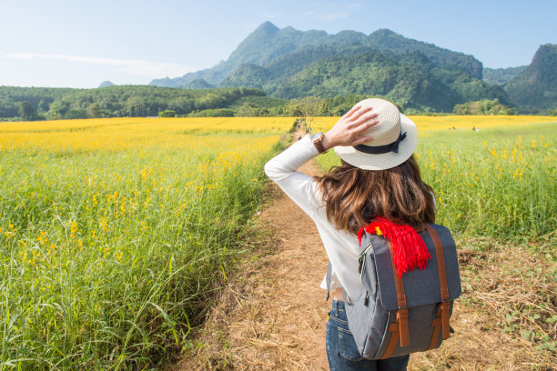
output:
{"label": "pale blue sky above the mountains", "polygon": [[18,86],[184,75],[227,59],[267,20],[329,34],[390,28],[491,68],[528,65],[557,44],[556,0],[0,0],[0,15],[0,85]]}

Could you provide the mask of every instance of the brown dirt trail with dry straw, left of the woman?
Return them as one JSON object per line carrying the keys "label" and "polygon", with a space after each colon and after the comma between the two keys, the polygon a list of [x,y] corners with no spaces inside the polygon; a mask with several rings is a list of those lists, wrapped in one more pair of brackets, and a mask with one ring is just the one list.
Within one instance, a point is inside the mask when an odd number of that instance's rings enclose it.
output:
{"label": "brown dirt trail with dry straw, left of the woman", "polygon": [[[321,173],[313,161],[299,171]],[[200,336],[201,350],[186,355],[177,369],[329,369],[330,301],[319,288],[329,260],[309,216],[279,187],[272,185],[270,192],[274,199],[260,221],[274,231],[272,250],[246,268],[236,287],[228,287]]]}

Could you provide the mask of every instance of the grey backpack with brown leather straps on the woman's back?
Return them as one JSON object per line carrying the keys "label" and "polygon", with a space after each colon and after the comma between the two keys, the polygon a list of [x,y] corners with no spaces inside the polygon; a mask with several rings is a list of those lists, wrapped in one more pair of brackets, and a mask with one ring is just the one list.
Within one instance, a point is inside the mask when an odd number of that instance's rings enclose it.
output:
{"label": "grey backpack with brown leather straps on the woman's back", "polygon": [[[363,289],[359,297],[349,298],[344,292],[344,298],[349,330],[364,358],[435,349],[450,336],[452,303],[461,296],[456,246],[448,228],[424,226],[414,229],[431,258],[423,269],[401,277],[391,257],[390,241],[365,231],[360,235]],[[329,265],[329,289],[331,272]]]}

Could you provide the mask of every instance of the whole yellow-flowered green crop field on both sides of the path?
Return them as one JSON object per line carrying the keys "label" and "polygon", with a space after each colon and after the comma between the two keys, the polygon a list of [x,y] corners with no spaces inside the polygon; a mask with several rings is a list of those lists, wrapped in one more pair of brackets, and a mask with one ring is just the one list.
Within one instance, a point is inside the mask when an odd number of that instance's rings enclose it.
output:
{"label": "whole yellow-flowered green crop field on both sides of the path", "polygon": [[[439,222],[517,241],[557,228],[555,120],[413,119]],[[0,123],[0,365],[141,369],[183,346],[244,250],[263,164],[293,121]]]}

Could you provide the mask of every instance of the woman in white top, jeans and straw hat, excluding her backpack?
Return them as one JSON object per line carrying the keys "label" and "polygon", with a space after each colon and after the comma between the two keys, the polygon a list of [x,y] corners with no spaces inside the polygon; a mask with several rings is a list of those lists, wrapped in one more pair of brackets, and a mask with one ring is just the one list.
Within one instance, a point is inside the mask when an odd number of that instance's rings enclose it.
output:
{"label": "woman in white top, jeans and straw hat, excluding her backpack", "polygon": [[[431,187],[421,181],[412,153],[416,125],[382,99],[355,105],[326,134],[299,140],[265,165],[266,174],[315,222],[332,267],[334,297],[326,347],[331,370],[405,370],[409,356],[362,359],[349,332],[343,289],[358,297],[360,227],[378,216],[399,224],[433,223]],[[342,160],[329,174],[310,177],[296,170],[330,148]],[[326,279],[321,284],[327,288]]]}

